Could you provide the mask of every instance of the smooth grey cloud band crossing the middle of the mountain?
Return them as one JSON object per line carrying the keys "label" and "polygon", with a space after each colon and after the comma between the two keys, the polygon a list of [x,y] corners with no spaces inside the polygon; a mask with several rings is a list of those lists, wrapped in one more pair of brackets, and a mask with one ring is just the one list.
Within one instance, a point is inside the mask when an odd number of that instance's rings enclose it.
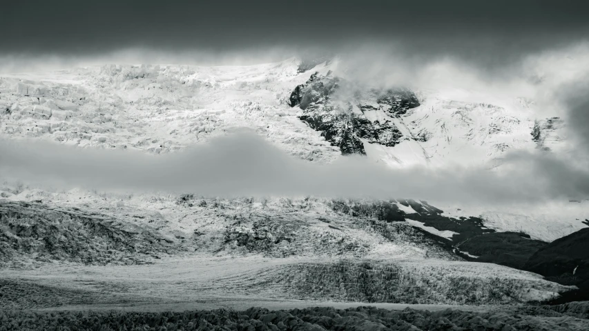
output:
{"label": "smooth grey cloud band crossing the middle of the mountain", "polygon": [[158,156],[23,141],[1,141],[0,155],[5,177],[62,188],[494,204],[589,197],[589,171],[550,154],[508,154],[500,171],[391,169],[362,157],[320,165],[290,157],[249,131]]}

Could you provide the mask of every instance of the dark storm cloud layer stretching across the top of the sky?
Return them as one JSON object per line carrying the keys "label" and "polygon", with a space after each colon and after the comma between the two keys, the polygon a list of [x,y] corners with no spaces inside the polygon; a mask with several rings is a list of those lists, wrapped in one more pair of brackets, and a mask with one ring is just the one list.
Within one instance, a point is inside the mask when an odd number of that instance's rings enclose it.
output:
{"label": "dark storm cloud layer stretching across the top of the sky", "polygon": [[414,56],[492,66],[586,37],[586,1],[8,1],[0,50],[97,54],[122,48],[322,52],[398,42]]}

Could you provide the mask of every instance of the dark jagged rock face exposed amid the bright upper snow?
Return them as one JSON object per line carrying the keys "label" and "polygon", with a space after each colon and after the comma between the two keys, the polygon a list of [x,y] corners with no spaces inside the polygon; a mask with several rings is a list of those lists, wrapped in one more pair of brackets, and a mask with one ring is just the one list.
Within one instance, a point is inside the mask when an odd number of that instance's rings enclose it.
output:
{"label": "dark jagged rock face exposed amid the bright upper snow", "polygon": [[403,134],[392,118],[419,106],[419,101],[409,90],[358,88],[331,72],[316,72],[293,90],[289,106],[299,106],[299,118],[342,154],[366,154],[363,140],[390,147],[399,143]]}

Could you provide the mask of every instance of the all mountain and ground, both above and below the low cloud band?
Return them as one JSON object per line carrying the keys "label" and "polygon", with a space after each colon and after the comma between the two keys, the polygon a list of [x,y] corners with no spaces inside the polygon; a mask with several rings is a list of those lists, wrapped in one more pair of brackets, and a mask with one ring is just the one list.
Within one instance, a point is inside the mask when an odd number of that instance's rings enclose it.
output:
{"label": "all mountain and ground, both above and below the low cloud band", "polygon": [[[314,163],[499,170],[509,150],[566,144],[563,121],[533,117],[529,100],[341,73],[289,59],[7,75],[0,137],[160,157],[247,127]],[[588,330],[588,203],[476,210],[2,179],[0,330]]]}

